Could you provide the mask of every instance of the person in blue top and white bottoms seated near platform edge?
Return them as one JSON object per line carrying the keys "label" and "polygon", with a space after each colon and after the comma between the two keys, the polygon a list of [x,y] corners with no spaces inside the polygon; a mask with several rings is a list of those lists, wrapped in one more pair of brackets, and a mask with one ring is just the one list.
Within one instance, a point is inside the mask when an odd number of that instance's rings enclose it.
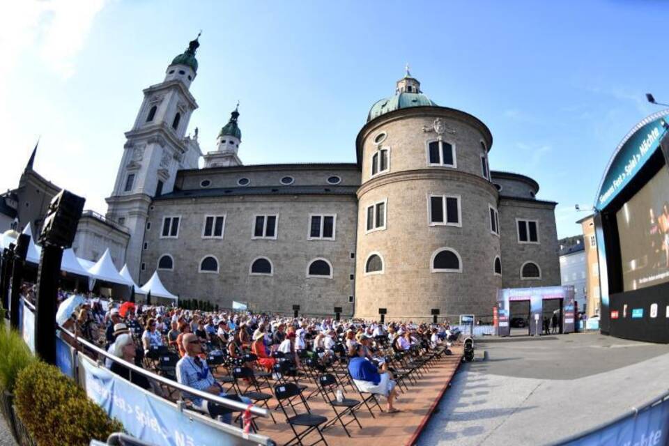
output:
{"label": "person in blue top and white bottoms seated near platform edge", "polygon": [[383,362],[377,369],[371,361],[364,357],[365,351],[361,344],[351,346],[348,356],[351,357],[348,361],[348,373],[351,374],[353,383],[360,392],[383,395],[388,400],[388,413],[399,412],[399,409],[393,406],[397,398],[397,386],[394,380],[390,379],[387,364]]}

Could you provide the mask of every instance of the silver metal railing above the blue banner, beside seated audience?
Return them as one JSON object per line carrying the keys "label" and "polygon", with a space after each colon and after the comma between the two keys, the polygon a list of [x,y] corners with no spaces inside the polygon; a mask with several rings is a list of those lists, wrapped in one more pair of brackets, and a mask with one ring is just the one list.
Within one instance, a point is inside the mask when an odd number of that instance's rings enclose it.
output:
{"label": "silver metal railing above the blue banner, beside seated audience", "polygon": [[[57,324],[56,324],[57,325]],[[121,364],[123,367],[129,369],[133,373],[140,374],[147,378],[148,380],[153,380],[157,383],[162,383],[166,385],[167,387],[171,387],[173,389],[178,390],[179,392],[186,392],[188,394],[192,394],[195,397],[204,399],[206,401],[211,401],[213,403],[220,404],[221,406],[224,406],[225,408],[230,408],[233,410],[237,411],[245,411],[247,408],[249,408],[249,405],[247,403],[242,403],[240,401],[233,401],[231,399],[226,399],[219,397],[218,395],[210,394],[207,392],[202,392],[201,390],[194,389],[193,387],[188,387],[187,385],[183,385],[181,383],[178,383],[174,380],[171,380],[169,378],[166,378],[164,376],[160,376],[157,374],[154,374],[151,371],[145,370],[141,367],[138,367],[135,364],[132,364],[132,362],[125,361],[121,359],[120,357],[114,356],[112,353],[108,353],[105,351],[103,348],[100,348],[96,346],[95,344],[92,344],[91,342],[87,341],[86,339],[83,339],[82,337],[77,337],[75,336],[75,333],[70,332],[70,330],[63,328],[61,325],[57,325],[59,330],[61,332],[68,334],[73,341],[75,342],[76,345],[80,345],[82,347],[85,347],[86,349],[96,353],[98,355],[98,361],[100,360],[100,357],[105,357],[112,362],[117,362],[118,364]],[[75,355],[79,353],[84,353],[83,351],[80,351],[79,348],[75,347]],[[85,354],[85,353],[84,353]],[[92,358],[91,358],[92,359]],[[75,356],[76,360],[76,356]],[[173,403],[172,401],[169,401],[169,399],[164,399],[165,402],[174,404],[175,408],[182,411],[187,408],[185,405],[185,402],[183,400],[179,400],[177,403]],[[259,408],[256,406],[251,406],[249,408],[250,412],[252,415],[256,415],[259,417],[269,417],[270,413],[267,409]],[[192,411],[191,416],[200,416],[200,420],[202,422],[205,422],[206,424],[209,424],[210,426],[213,426],[215,429],[219,429],[220,431],[224,431],[226,433],[230,433],[233,436],[244,436],[245,439],[251,440],[259,445],[266,445],[266,446],[275,446],[275,442],[263,435],[259,435],[257,433],[248,433],[248,434],[243,434],[243,431],[239,429],[236,426],[233,426],[231,424],[226,424],[224,422],[220,422],[217,420],[213,420],[212,418],[208,416],[201,415],[197,411]]]}

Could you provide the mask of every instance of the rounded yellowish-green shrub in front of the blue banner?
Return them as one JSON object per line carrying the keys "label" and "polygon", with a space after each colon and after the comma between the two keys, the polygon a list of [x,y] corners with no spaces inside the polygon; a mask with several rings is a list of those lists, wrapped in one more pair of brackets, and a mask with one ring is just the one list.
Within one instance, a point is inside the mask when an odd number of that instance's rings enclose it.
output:
{"label": "rounded yellowish-green shrub in front of the blue banner", "polygon": [[15,394],[17,413],[40,446],[88,445],[123,430],[74,381],[44,362],[19,374]]}

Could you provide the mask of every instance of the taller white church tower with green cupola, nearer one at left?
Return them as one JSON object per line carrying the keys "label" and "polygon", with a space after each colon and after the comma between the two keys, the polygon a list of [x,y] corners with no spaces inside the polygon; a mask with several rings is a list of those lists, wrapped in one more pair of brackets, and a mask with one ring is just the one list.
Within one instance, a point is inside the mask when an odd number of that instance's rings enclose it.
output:
{"label": "taller white church tower with green cupola, nearer one at left", "polygon": [[114,192],[106,199],[107,219],[130,231],[126,263],[135,280],[151,199],[171,192],[176,172],[197,169],[202,156],[197,129],[194,137],[185,136],[190,116],[197,109],[188,89],[197,75],[198,38],[169,64],[160,84],[144,89],[132,130],[125,133]]}

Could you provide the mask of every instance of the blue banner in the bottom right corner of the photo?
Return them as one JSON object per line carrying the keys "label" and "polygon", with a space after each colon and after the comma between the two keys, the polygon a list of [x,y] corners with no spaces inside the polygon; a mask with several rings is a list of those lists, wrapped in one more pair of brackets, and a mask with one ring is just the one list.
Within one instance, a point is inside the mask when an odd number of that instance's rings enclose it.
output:
{"label": "blue banner in the bottom right corner of the photo", "polygon": [[624,420],[562,443],[569,446],[662,446],[669,444],[669,400],[649,406]]}

